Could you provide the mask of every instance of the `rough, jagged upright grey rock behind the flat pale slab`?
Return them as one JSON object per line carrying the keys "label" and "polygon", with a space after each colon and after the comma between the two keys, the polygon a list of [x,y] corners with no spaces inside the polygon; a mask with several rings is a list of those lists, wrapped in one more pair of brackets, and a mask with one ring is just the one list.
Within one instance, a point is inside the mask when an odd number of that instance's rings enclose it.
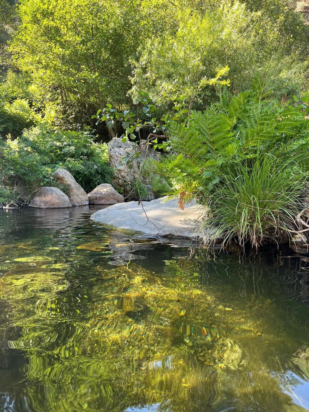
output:
{"label": "rough, jagged upright grey rock behind the flat pale slab", "polygon": [[[136,182],[136,180],[148,189],[147,197],[143,200],[154,199],[149,180],[141,176],[140,166],[147,157],[158,160],[159,156],[157,152],[154,152],[151,147],[144,143],[145,140],[141,140],[140,145],[136,145],[129,140],[123,143],[120,138],[114,137],[108,145],[110,166],[115,169],[115,178],[112,180],[112,184],[116,189],[121,189],[124,197],[129,199],[132,198],[131,183]],[[124,158],[131,157],[137,152],[139,153],[138,158],[132,159],[129,167]]]}

